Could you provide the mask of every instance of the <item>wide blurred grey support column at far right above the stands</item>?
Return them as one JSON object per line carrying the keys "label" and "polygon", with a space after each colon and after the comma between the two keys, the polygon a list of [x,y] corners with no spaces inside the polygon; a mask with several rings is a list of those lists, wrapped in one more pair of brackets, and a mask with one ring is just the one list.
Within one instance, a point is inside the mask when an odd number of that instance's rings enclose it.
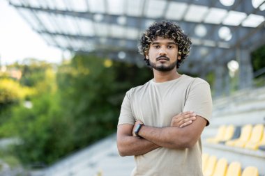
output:
{"label": "wide blurred grey support column at far right above the stands", "polygon": [[253,69],[250,51],[248,49],[238,49],[237,58],[239,59],[239,89],[251,88]]}

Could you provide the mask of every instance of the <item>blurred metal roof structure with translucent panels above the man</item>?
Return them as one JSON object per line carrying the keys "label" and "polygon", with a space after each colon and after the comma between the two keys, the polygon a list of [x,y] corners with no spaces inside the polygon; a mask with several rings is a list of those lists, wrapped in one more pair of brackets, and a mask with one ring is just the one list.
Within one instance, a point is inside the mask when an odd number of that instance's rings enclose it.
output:
{"label": "blurred metal roof structure with translucent panels above the man", "polygon": [[264,0],[8,1],[49,45],[137,65],[145,64],[137,43],[146,27],[177,22],[192,39],[181,71],[192,74],[216,72],[265,43]]}

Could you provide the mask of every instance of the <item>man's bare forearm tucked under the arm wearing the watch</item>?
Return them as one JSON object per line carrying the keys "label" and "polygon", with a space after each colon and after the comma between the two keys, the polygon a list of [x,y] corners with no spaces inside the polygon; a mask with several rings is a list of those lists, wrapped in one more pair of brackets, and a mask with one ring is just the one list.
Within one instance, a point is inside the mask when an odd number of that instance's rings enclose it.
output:
{"label": "man's bare forearm tucked under the arm wearing the watch", "polygon": [[121,136],[118,141],[118,150],[122,157],[146,154],[160,147],[144,138],[135,136]]}

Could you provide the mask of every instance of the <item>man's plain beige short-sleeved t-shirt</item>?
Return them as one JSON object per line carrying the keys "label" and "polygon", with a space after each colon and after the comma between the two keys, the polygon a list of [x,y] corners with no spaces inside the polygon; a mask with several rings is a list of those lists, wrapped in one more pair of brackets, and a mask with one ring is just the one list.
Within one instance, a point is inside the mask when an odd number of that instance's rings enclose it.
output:
{"label": "man's plain beige short-sleeved t-shirt", "polygon": [[[151,127],[169,127],[174,115],[194,111],[209,124],[212,99],[209,83],[183,74],[179,79],[131,88],[123,99],[119,123],[135,124],[141,120]],[[173,150],[160,147],[135,156],[136,167],[132,175],[144,176],[202,176],[202,143],[194,147]]]}

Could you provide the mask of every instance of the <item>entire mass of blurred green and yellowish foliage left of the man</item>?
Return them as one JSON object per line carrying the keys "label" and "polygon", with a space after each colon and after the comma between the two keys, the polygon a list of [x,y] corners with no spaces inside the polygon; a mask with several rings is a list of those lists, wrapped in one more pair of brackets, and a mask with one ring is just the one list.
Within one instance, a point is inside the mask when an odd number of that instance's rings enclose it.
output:
{"label": "entire mass of blurred green and yellowish foliage left of the man", "polygon": [[[19,98],[12,109],[2,113],[8,120],[0,127],[0,136],[22,141],[13,146],[13,151],[24,164],[53,163],[112,134],[126,91],[152,77],[146,67],[95,56],[77,55],[56,73],[52,67],[40,71],[31,66],[27,65],[32,70],[31,78],[38,79],[33,79],[33,84],[21,84],[33,86],[27,98],[33,108],[26,108]],[[23,69],[25,65],[15,67]],[[22,79],[25,77],[27,74],[22,74]],[[21,84],[13,87],[22,87]]]}

